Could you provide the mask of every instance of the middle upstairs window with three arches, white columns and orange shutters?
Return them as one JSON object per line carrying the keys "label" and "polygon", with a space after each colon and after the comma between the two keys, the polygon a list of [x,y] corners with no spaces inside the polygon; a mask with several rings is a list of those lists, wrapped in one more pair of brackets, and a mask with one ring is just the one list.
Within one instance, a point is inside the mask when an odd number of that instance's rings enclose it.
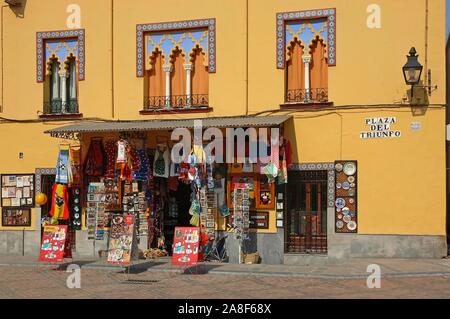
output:
{"label": "middle upstairs window with three arches, white columns and orange shutters", "polygon": [[[215,22],[204,21],[203,27],[194,27],[194,22],[185,29],[158,25],[158,31],[139,36],[143,43],[137,50],[143,59],[138,55],[137,75],[145,75],[141,114],[173,109],[209,111],[209,73],[216,71],[216,59],[214,26],[209,30],[207,25]],[[146,28],[155,29],[153,25]]]}

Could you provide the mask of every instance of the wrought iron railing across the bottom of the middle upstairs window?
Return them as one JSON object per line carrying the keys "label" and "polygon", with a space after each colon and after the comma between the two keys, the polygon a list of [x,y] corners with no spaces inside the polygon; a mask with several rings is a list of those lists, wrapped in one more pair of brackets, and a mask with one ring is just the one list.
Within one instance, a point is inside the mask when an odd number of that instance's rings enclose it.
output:
{"label": "wrought iron railing across the bottom of the middle upstairs window", "polygon": [[144,110],[198,109],[208,106],[208,94],[150,96],[144,100]]}

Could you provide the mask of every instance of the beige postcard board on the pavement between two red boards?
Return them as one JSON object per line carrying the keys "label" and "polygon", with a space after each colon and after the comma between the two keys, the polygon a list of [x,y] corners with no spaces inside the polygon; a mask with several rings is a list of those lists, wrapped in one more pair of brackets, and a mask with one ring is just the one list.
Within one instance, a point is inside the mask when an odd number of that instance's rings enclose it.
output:
{"label": "beige postcard board on the pavement between two red boards", "polygon": [[135,216],[114,214],[111,221],[107,262],[120,266],[126,275],[126,281],[130,281],[128,278],[130,269],[133,267],[133,261],[138,258]]}

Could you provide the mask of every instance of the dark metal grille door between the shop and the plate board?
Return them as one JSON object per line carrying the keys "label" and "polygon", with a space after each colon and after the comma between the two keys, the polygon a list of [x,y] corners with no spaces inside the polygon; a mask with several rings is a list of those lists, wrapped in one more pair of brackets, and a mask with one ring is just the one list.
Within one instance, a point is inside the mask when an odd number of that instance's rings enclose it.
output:
{"label": "dark metal grille door between the shop and the plate board", "polygon": [[327,253],[327,171],[289,172],[286,253]]}

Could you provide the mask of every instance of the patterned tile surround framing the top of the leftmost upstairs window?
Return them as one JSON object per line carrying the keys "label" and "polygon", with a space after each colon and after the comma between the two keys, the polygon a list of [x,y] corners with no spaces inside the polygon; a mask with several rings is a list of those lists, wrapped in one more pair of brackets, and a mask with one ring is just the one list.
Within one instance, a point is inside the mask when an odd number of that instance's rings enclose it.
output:
{"label": "patterned tile surround framing the top of the leftmost upstairs window", "polygon": [[36,32],[36,80],[39,83],[45,81],[45,41],[77,39],[78,41],[78,80],[85,80],[85,30],[61,30]]}

